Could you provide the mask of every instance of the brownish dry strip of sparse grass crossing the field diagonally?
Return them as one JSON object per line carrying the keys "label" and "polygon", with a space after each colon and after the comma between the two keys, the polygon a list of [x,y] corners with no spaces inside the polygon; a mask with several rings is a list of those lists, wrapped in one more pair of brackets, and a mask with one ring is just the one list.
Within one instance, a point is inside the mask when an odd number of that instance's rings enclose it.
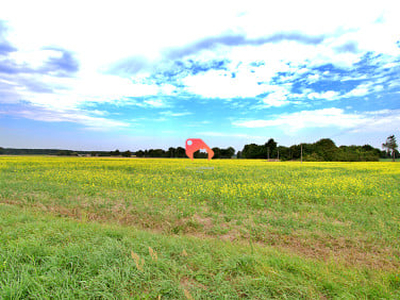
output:
{"label": "brownish dry strip of sparse grass crossing the field diagonally", "polygon": [[[57,204],[43,204],[40,202],[29,203],[16,200],[0,200],[0,203],[19,207],[30,207],[48,212],[57,216],[69,217],[82,222],[117,222],[124,226],[135,226],[139,229],[149,230],[163,234],[184,234],[201,239],[220,239],[227,242],[249,243],[252,241],[262,247],[275,247],[288,253],[344,264],[346,266],[367,267],[371,269],[393,270],[400,268],[400,251],[378,243],[363,240],[362,237],[331,237],[324,233],[314,233],[312,236],[303,232],[301,234],[282,234],[271,232],[268,227],[258,226],[262,234],[256,237],[235,222],[224,222],[223,217],[218,222],[211,217],[195,213],[185,218],[156,219],[151,209],[138,210],[131,206],[117,203],[109,210],[88,211],[90,208],[65,207]],[[171,211],[171,215],[172,215]],[[218,224],[216,224],[218,223]],[[213,231],[215,226],[225,229],[219,234]]]}

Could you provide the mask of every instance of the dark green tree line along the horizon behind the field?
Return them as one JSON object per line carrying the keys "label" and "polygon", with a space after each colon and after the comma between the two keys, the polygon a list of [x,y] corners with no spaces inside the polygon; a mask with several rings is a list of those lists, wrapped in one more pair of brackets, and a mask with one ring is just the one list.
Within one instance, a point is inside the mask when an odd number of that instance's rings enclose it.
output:
{"label": "dark green tree line along the horizon behind the field", "polygon": [[[302,143],[290,147],[278,146],[274,139],[269,139],[265,144],[247,144],[236,153],[233,147],[214,147],[216,159],[272,159],[272,160],[304,160],[304,161],[378,161],[380,158],[399,157],[396,137],[389,136],[380,150],[371,145],[340,146],[337,147],[331,139],[320,139],[315,143]],[[72,151],[57,149],[14,149],[1,148],[0,155],[59,155],[59,156],[114,156],[114,157],[149,157],[149,158],[186,158],[183,147],[170,147],[168,150],[149,149],[131,152],[126,151]],[[236,154],[236,155],[235,155]],[[195,158],[207,158],[206,152],[196,151]]]}

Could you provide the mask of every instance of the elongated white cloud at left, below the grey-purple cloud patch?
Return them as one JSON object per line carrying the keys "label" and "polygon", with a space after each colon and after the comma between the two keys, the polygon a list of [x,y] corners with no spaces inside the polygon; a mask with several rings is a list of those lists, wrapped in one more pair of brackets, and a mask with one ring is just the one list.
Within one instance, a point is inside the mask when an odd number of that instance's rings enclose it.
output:
{"label": "elongated white cloud at left, below the grey-purple cloud patch", "polygon": [[[53,109],[77,109],[80,105],[88,102],[105,103],[115,102],[127,104],[130,101],[125,99],[130,97],[146,97],[158,95],[170,95],[175,88],[171,85],[163,84],[143,84],[134,83],[130,79],[112,75],[102,74],[83,74],[78,78],[53,77],[42,75],[40,85],[52,91],[43,92],[30,90],[24,84],[18,84],[17,80],[29,82],[34,80],[32,75],[19,75],[10,79],[13,82],[12,89],[16,100],[28,101],[34,105]],[[1,99],[0,99],[0,102]],[[147,105],[154,107],[164,107],[162,100],[145,101]]]}

